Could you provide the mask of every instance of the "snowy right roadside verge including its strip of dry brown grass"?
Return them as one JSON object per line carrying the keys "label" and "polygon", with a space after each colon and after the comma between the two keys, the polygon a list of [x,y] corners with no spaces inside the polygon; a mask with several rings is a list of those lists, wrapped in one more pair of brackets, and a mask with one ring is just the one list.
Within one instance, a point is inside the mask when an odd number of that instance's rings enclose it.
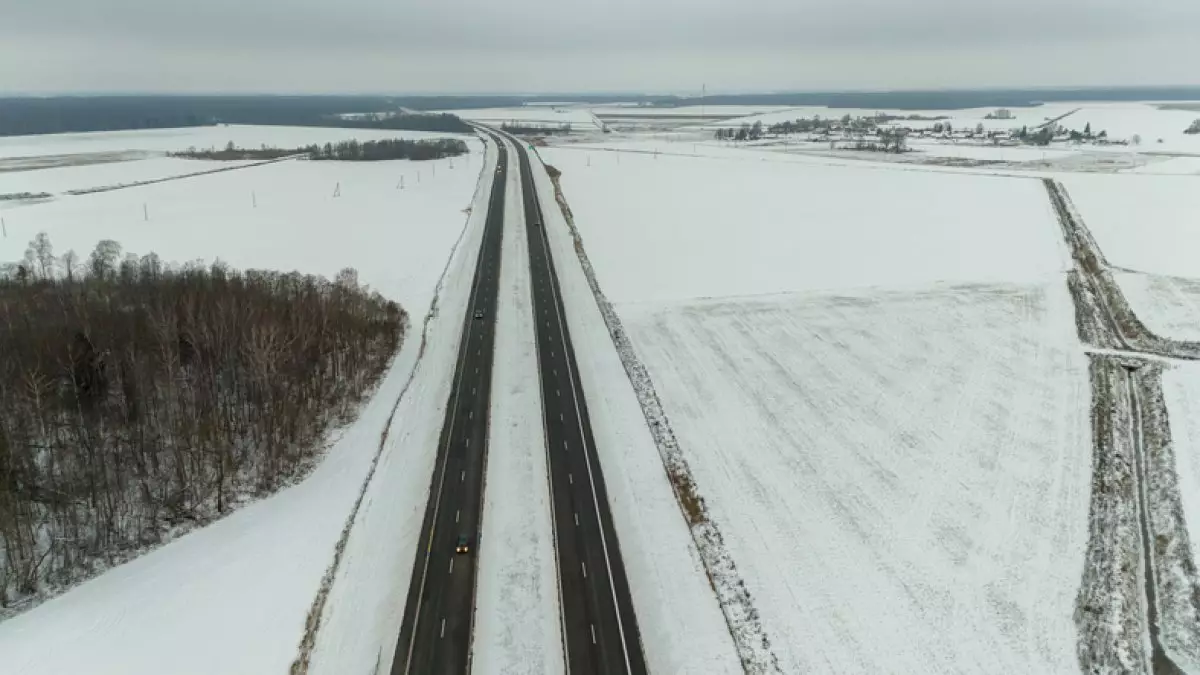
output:
{"label": "snowy right roadside verge including its strip of dry brown grass", "polygon": [[540,162],[533,173],[648,665],[667,674],[775,673],[766,632],[720,532],[697,518],[704,512],[694,491],[673,494],[685,484],[686,462],[569,210],[556,203]]}

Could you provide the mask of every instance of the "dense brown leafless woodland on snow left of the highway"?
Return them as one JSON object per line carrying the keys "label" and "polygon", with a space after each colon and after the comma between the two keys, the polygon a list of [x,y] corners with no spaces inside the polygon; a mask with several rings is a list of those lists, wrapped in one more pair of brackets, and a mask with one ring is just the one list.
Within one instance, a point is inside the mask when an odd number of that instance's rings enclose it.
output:
{"label": "dense brown leafless woodland on snow left of the highway", "polygon": [[404,311],[358,282],[41,234],[0,269],[0,614],[302,476]]}

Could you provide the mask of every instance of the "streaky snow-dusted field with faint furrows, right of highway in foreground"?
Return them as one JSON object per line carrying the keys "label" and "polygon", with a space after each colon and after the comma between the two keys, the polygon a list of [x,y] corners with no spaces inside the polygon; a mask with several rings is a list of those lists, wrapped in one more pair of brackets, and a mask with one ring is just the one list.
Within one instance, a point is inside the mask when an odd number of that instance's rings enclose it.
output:
{"label": "streaky snow-dusted field with faint furrows, right of highway in foreground", "polygon": [[1061,281],[618,311],[781,671],[1078,670],[1092,454]]}

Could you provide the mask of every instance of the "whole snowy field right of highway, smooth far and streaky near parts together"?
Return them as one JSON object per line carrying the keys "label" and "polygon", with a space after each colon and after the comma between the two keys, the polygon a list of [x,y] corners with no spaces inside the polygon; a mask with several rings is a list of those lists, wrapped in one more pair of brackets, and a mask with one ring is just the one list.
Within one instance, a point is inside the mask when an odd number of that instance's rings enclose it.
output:
{"label": "whole snowy field right of highway, smooth far and streaky near parts together", "polygon": [[737,153],[540,150],[780,671],[1076,671],[1090,393],[1044,189]]}

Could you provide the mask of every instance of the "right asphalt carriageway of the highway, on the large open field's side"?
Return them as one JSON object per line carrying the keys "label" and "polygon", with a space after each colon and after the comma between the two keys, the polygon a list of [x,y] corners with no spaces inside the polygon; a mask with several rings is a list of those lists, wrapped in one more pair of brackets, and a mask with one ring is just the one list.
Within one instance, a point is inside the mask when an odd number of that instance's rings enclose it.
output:
{"label": "right asphalt carriageway of the highway, on the large open field's side", "polygon": [[521,159],[529,237],[566,671],[644,675],[637,617],[600,473],[563,295],[542,227],[545,220],[529,155],[520,141],[515,143]]}

